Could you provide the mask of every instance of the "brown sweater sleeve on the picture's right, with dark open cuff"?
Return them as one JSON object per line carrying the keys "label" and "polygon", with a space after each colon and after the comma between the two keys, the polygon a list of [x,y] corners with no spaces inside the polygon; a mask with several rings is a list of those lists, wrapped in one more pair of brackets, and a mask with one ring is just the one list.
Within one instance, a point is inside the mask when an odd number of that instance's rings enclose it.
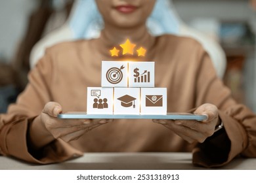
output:
{"label": "brown sweater sleeve on the picture's right, with dark open cuff", "polygon": [[211,103],[219,108],[224,129],[213,134],[193,150],[193,163],[219,167],[236,156],[256,157],[256,115],[232,99],[230,90],[215,74],[207,53],[201,50],[196,78],[196,106]]}

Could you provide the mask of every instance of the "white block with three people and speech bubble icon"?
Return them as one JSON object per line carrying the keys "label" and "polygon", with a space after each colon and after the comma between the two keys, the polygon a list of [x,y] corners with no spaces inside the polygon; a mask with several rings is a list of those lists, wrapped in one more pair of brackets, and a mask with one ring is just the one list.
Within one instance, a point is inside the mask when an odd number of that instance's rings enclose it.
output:
{"label": "white block with three people and speech bubble icon", "polygon": [[87,114],[113,114],[113,88],[87,88]]}

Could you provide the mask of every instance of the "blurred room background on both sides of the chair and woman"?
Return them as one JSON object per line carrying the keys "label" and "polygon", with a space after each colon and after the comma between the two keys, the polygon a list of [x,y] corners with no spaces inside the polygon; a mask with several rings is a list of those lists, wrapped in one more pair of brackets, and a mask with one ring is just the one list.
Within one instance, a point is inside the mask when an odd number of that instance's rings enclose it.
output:
{"label": "blurred room background on both sides of the chair and woman", "polygon": [[[172,5],[186,26],[218,42],[226,58],[224,83],[256,112],[256,1],[173,0]],[[35,44],[62,26],[72,7],[73,0],[0,1],[0,113],[24,90]]]}

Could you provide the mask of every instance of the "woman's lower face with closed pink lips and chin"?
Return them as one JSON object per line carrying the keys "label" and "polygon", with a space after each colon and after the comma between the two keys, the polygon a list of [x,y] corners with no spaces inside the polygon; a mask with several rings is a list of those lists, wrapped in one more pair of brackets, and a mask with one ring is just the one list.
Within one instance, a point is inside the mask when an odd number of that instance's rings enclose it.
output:
{"label": "woman's lower face with closed pink lips and chin", "polygon": [[95,0],[105,24],[136,27],[145,24],[156,0]]}

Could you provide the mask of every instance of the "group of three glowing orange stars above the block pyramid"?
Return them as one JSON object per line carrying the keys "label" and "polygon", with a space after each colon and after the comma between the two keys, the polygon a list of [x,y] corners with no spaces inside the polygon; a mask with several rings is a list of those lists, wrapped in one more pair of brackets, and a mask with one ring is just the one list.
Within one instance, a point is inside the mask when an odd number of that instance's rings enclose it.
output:
{"label": "group of three glowing orange stars above the block pyramid", "polygon": [[[121,48],[123,48],[123,55],[125,54],[131,54],[133,55],[133,50],[136,46],[136,44],[131,43],[131,41],[129,41],[129,39],[127,39],[125,41],[125,43],[120,44],[119,46],[121,46]],[[120,50],[117,50],[116,47],[114,47],[112,50],[110,50],[111,56],[118,56]],[[146,54],[146,49],[140,47],[138,50],[138,56],[145,56]]]}

